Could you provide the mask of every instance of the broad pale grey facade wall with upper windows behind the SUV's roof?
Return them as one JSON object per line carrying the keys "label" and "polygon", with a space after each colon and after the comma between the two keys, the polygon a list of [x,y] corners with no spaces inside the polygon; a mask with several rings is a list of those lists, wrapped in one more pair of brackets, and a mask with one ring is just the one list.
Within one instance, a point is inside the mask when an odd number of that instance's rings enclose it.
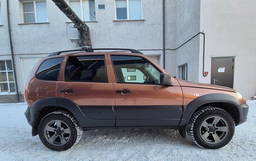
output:
{"label": "broad pale grey facade wall with upper windows behind the SUV's roof", "polygon": [[[78,49],[77,30],[52,2],[47,0],[49,23],[22,24],[21,2],[10,2],[10,19],[13,51],[17,71],[18,88],[24,91],[22,58],[45,57],[58,50]],[[106,4],[106,10],[98,10],[98,4]],[[170,3],[170,2],[168,2]],[[142,0],[143,20],[115,21],[114,0],[95,0],[96,21],[86,22],[94,48],[162,49],[162,1]],[[1,1],[3,26],[0,26],[0,59],[11,59],[7,25],[6,1]],[[163,65],[162,51],[143,51],[144,54],[159,56]],[[1,56],[7,54],[9,56]]]}

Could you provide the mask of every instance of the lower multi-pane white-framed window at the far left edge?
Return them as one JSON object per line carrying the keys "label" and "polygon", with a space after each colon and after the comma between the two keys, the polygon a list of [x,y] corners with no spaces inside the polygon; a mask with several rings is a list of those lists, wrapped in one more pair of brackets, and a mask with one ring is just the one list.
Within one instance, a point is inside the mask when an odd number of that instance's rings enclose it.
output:
{"label": "lower multi-pane white-framed window at the far left edge", "polygon": [[0,61],[0,93],[15,91],[12,61]]}

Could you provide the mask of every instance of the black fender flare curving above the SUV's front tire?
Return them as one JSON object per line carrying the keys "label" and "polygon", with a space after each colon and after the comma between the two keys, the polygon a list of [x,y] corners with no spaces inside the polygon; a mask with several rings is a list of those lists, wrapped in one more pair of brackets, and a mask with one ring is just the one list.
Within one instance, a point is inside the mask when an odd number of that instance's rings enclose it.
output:
{"label": "black fender flare curving above the SUV's front tire", "polygon": [[[204,104],[208,103],[230,103],[233,104],[239,111],[239,119],[241,120],[242,109],[239,108],[241,103],[234,96],[228,94],[206,94],[194,99],[188,105],[184,106],[184,113],[182,115],[179,126],[187,126],[192,114]],[[239,121],[240,121],[239,120]]]}

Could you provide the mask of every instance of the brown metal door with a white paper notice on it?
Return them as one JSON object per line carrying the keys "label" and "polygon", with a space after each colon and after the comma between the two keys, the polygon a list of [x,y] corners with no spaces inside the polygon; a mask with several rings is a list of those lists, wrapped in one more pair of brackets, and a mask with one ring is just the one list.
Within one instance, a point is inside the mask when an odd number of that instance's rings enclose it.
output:
{"label": "brown metal door with a white paper notice on it", "polygon": [[233,88],[235,57],[212,58],[211,84]]}

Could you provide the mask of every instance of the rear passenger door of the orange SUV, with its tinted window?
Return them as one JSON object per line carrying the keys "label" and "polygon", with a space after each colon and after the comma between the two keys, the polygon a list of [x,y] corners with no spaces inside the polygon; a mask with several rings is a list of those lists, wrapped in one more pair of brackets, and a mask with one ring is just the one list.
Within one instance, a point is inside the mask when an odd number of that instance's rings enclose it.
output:
{"label": "rear passenger door of the orange SUV, with its tinted window", "polygon": [[78,105],[87,127],[115,126],[113,85],[105,54],[73,54],[62,64],[57,97]]}

